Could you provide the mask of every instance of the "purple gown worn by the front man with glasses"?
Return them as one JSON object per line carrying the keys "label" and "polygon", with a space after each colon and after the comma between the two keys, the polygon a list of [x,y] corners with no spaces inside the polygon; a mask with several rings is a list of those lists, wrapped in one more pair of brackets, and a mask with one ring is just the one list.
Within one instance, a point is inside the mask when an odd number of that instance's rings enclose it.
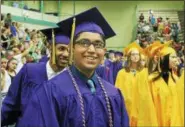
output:
{"label": "purple gown worn by the front man with glasses", "polygon": [[[96,93],[91,93],[86,83],[74,75],[85,107],[86,127],[108,127],[108,111],[103,91],[98,81]],[[129,119],[124,99],[119,89],[101,79],[112,109],[114,127],[128,127]],[[67,70],[40,85],[29,101],[22,127],[82,127],[79,98]]]}

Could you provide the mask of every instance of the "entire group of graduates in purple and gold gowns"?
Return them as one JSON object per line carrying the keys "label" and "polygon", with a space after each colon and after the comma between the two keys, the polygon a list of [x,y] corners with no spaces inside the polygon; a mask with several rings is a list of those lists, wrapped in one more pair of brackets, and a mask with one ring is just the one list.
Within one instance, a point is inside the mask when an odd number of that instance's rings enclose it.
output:
{"label": "entire group of graduates in purple and gold gowns", "polygon": [[103,60],[106,40],[115,32],[96,7],[58,25],[42,30],[50,56],[26,64],[11,84],[2,126],[184,126],[184,71],[175,73],[170,42],[146,49],[131,43],[122,68],[121,61]]}

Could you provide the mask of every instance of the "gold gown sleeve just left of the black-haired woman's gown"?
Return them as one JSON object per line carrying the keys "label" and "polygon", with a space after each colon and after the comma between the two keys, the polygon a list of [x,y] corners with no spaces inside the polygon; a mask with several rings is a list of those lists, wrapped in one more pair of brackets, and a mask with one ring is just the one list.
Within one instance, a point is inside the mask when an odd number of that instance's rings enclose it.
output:
{"label": "gold gown sleeve just left of the black-haired woman's gown", "polygon": [[[158,126],[157,115],[148,81],[148,71],[143,69],[137,77],[138,126]],[[147,111],[147,113],[146,113]]]}

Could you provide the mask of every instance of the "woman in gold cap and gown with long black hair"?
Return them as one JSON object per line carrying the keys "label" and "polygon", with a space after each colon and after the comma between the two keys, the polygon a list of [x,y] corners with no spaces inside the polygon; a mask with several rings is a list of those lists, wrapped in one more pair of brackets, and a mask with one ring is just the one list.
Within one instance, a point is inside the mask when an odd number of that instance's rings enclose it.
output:
{"label": "woman in gold cap and gown with long black hair", "polygon": [[149,75],[149,86],[158,124],[160,127],[183,126],[180,121],[179,101],[176,91],[178,77],[172,73],[172,68],[176,67],[177,63],[176,52],[171,47],[163,46],[157,55],[159,55],[159,61],[156,69]]}

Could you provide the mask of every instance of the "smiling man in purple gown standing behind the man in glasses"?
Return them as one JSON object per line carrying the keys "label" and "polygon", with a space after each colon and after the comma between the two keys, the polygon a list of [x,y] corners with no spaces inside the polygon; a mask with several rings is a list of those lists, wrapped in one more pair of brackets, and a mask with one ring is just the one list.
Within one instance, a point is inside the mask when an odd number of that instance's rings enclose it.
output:
{"label": "smiling man in purple gown standing behind the man in glasses", "polygon": [[48,62],[25,64],[17,74],[2,103],[2,126],[18,124],[37,86],[59,74],[68,65],[70,39],[61,28],[53,30],[56,36],[52,43],[49,37],[51,29],[42,31],[50,40],[51,59]]}

